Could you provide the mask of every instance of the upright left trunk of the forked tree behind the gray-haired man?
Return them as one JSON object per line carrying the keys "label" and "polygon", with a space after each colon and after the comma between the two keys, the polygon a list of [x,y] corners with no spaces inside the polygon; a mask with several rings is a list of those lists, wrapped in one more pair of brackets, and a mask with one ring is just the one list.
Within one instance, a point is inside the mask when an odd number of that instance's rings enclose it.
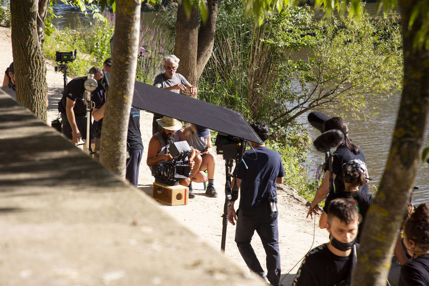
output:
{"label": "upright left trunk of the forked tree behind the gray-haired man", "polygon": [[[179,4],[176,18],[174,54],[180,59],[178,73],[193,86],[197,86],[196,55],[198,47],[198,11],[195,7],[187,19],[184,7]],[[195,95],[196,97],[196,95]]]}

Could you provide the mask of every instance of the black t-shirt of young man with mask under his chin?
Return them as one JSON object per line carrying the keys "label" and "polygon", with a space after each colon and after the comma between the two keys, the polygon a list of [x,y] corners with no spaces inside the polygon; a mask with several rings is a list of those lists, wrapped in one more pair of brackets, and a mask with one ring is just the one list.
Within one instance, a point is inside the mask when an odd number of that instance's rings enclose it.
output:
{"label": "black t-shirt of young man with mask under his chin", "polygon": [[[359,244],[355,245],[357,252]],[[292,286],[347,286],[355,262],[353,248],[349,256],[337,256],[322,244],[307,253]]]}

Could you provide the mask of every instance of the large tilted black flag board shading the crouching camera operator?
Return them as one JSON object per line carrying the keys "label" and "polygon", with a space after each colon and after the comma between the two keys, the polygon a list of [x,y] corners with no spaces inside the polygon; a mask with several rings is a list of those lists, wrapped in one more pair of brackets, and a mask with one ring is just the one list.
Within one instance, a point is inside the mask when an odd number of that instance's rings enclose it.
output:
{"label": "large tilted black flag board shading the crouching camera operator", "polygon": [[133,106],[262,144],[238,111],[136,81]]}

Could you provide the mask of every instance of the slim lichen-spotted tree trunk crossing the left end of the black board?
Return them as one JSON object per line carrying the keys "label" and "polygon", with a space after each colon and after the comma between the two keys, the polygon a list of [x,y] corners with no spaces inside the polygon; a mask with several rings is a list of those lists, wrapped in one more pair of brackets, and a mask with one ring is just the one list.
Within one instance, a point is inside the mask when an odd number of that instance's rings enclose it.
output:
{"label": "slim lichen-spotted tree trunk crossing the left end of the black board", "polygon": [[133,102],[141,0],[116,0],[112,73],[101,131],[100,163],[125,179],[128,120]]}

